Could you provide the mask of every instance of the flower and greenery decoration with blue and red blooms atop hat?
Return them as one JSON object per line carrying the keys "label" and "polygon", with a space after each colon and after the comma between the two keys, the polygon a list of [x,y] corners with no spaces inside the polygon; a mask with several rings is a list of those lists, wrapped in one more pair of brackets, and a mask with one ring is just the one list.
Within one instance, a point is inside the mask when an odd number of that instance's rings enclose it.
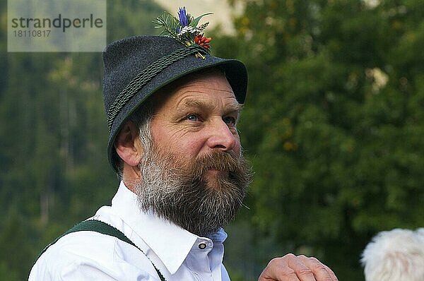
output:
{"label": "flower and greenery decoration with blue and red blooms atop hat", "polygon": [[[204,49],[205,52],[209,53],[211,45],[211,37],[204,37],[204,30],[209,23],[204,23],[199,26],[199,21],[204,16],[211,15],[211,13],[204,13],[197,18],[187,13],[185,7],[179,8],[178,18],[172,16],[170,13],[163,13],[162,16],[158,16],[155,23],[155,28],[160,28],[162,31],[160,35],[172,37],[178,42],[184,44],[184,46],[190,47],[193,44],[197,44]],[[196,56],[205,59],[204,54],[196,53]]]}

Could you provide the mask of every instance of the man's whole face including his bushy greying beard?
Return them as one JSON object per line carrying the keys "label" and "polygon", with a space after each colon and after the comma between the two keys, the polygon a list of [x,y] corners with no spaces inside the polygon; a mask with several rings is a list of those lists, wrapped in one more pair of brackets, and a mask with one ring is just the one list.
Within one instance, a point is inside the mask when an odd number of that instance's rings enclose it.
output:
{"label": "man's whole face including his bushy greying beard", "polygon": [[157,99],[139,203],[206,236],[235,216],[251,181],[236,129],[241,106],[220,73],[196,76]]}

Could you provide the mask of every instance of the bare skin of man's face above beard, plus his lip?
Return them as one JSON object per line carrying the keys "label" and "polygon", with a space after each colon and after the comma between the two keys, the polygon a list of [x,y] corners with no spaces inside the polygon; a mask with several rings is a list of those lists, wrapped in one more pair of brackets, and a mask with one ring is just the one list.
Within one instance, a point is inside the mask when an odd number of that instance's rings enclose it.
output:
{"label": "bare skin of man's face above beard, plus his lip", "polygon": [[[240,109],[223,74],[201,76],[165,97],[153,117],[153,142],[187,162],[216,150],[240,155],[236,129]],[[208,170],[210,179],[220,174],[223,172]]]}

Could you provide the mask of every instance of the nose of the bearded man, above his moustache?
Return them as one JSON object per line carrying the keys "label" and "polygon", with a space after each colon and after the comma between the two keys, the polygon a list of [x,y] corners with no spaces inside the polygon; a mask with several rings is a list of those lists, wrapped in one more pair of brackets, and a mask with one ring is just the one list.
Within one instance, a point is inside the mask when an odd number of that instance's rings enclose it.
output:
{"label": "nose of the bearded man, above his moustache", "polygon": [[220,119],[213,122],[211,135],[208,138],[208,147],[222,151],[230,151],[235,148],[238,142],[237,131],[230,130],[228,125]]}

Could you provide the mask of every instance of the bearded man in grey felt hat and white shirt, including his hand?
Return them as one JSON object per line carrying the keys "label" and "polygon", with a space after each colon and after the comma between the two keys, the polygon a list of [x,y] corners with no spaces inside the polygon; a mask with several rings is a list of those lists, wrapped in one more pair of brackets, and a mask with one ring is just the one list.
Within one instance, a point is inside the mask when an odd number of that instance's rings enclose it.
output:
{"label": "bearded man in grey felt hat and white shirt, including his hand", "polygon": [[[157,36],[105,49],[107,151],[119,189],[111,206],[45,249],[30,280],[230,280],[223,227],[252,179],[237,132],[247,71],[207,49]],[[288,254],[259,280],[336,276]]]}

